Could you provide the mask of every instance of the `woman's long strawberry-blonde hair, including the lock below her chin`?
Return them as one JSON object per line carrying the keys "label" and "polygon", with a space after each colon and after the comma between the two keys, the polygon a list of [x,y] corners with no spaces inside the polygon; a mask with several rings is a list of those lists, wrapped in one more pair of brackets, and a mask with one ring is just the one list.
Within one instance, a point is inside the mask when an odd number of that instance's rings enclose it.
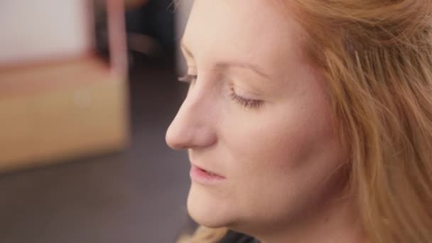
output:
{"label": "woman's long strawberry-blonde hair, including the lock below her chin", "polygon": [[[286,0],[328,81],[370,242],[432,242],[431,0]],[[289,10],[288,10],[289,9]],[[179,242],[213,243],[200,227]]]}

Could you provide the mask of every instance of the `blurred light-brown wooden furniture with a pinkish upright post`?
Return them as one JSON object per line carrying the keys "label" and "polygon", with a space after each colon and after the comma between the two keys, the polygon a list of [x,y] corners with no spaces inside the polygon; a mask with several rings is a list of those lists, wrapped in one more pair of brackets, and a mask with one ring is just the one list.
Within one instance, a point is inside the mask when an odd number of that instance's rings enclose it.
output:
{"label": "blurred light-brown wooden furniture with a pinkish upright post", "polygon": [[127,146],[123,8],[121,1],[107,1],[109,63],[87,51],[0,65],[0,171]]}

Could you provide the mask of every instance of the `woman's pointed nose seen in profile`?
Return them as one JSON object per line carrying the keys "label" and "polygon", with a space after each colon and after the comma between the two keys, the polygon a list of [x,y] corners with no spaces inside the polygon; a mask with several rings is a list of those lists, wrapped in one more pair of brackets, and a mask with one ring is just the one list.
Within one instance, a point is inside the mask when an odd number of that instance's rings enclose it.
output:
{"label": "woman's pointed nose seen in profile", "polygon": [[188,96],[166,131],[166,144],[173,149],[206,148],[217,141],[215,105],[212,95],[198,85],[190,88]]}

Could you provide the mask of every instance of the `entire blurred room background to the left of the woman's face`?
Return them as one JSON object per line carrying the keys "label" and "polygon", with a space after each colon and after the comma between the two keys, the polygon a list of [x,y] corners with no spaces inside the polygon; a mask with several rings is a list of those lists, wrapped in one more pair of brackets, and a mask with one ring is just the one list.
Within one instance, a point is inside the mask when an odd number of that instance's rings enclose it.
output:
{"label": "entire blurred room background to the left of the woman's face", "polygon": [[0,242],[174,242],[191,1],[0,1]]}

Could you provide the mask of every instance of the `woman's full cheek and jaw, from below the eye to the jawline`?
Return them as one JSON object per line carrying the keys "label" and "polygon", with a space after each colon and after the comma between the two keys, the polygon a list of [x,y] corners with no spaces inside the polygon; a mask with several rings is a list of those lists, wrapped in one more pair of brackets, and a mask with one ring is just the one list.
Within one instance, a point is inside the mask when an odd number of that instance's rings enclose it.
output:
{"label": "woman's full cheek and jaw, from below the eye to the jawline", "polygon": [[328,178],[343,153],[325,107],[308,107],[249,117],[225,134],[228,191],[242,220],[291,220],[333,193]]}

